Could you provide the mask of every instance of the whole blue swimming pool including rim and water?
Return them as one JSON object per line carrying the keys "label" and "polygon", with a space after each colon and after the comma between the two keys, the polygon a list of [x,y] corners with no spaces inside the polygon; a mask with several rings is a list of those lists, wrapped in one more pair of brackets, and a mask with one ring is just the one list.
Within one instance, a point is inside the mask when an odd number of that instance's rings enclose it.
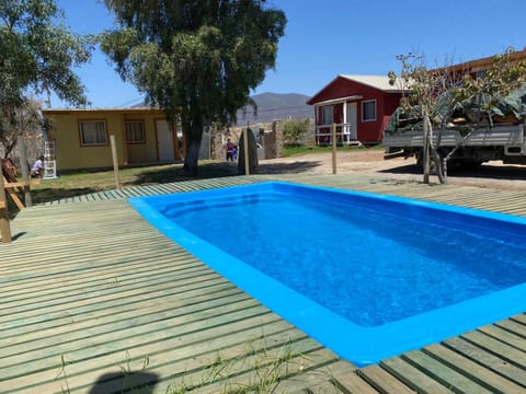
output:
{"label": "whole blue swimming pool including rim and water", "polygon": [[287,183],[130,204],[358,366],[525,310],[524,218]]}

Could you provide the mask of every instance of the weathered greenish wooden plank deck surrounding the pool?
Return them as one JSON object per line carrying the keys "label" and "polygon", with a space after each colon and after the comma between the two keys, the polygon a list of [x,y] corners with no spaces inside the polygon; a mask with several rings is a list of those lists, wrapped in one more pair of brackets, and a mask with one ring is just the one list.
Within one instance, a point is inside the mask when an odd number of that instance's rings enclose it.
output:
{"label": "weathered greenish wooden plank deck surrounding the pool", "polygon": [[[524,314],[357,369],[167,240],[125,200],[268,178],[136,187],[22,211],[14,241],[0,244],[0,393],[526,392]],[[522,192],[279,178],[526,216]]]}

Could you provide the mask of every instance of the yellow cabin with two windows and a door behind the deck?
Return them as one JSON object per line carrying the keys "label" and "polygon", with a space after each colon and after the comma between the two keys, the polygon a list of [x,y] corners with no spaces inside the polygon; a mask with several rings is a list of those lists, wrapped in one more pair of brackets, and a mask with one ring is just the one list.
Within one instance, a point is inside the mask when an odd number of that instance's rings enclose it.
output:
{"label": "yellow cabin with two windows and a door behind the deck", "polygon": [[56,169],[104,169],[113,165],[111,136],[119,166],[173,163],[183,150],[181,126],[152,108],[43,109],[52,128]]}

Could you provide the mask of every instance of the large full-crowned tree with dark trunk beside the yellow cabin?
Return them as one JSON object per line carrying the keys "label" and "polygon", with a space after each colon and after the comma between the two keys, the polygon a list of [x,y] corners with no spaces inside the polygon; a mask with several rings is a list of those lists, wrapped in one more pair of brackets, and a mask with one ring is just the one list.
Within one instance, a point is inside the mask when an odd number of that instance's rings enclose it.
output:
{"label": "large full-crowned tree with dark trunk beside the yellow cabin", "polygon": [[106,0],[119,30],[102,49],[150,105],[180,117],[186,138],[184,172],[197,174],[205,126],[235,123],[251,89],[274,67],[286,24],[265,0]]}

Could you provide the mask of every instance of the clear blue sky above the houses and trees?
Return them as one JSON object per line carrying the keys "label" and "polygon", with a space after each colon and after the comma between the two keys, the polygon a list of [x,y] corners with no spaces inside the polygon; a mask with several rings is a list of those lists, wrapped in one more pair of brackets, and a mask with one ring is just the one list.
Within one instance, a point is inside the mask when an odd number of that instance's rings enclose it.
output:
{"label": "clear blue sky above the houses and trees", "polygon": [[[102,0],[56,0],[75,33],[114,26]],[[524,0],[267,0],[285,12],[274,70],[252,92],[312,96],[339,74],[387,76],[400,71],[398,55],[424,55],[430,68],[526,48]],[[96,49],[76,69],[91,107],[142,102]],[[65,107],[52,95],[53,107]]]}

